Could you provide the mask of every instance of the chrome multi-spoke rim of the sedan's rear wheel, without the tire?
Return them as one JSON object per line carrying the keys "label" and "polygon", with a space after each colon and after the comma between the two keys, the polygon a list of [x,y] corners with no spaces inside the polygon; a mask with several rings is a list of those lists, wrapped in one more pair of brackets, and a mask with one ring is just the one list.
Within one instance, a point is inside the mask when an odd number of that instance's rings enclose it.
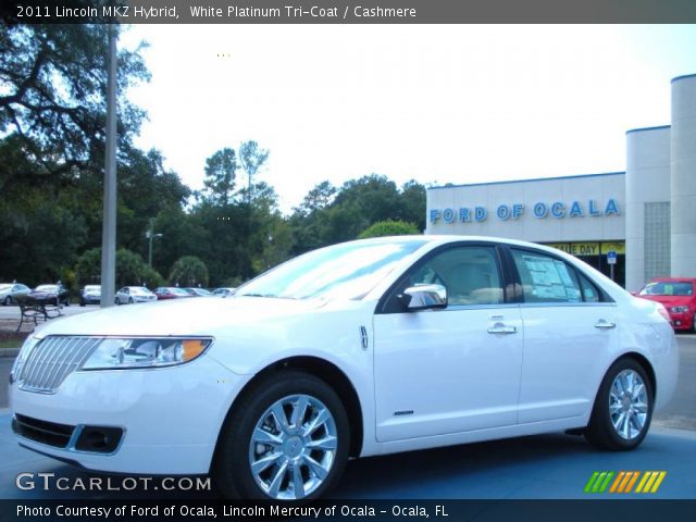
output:
{"label": "chrome multi-spoke rim of the sedan's rear wheel, without the tire", "polygon": [[617,434],[633,440],[648,419],[648,391],[634,370],[624,370],[613,380],[609,391],[609,418]]}

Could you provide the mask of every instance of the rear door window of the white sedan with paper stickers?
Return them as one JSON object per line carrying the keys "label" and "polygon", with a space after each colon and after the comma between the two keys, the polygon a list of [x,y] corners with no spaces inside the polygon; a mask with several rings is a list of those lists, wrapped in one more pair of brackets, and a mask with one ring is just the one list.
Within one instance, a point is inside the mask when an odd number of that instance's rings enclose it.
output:
{"label": "rear door window of the white sedan with paper stickers", "polygon": [[581,302],[575,271],[566,262],[540,252],[512,249],[524,302]]}

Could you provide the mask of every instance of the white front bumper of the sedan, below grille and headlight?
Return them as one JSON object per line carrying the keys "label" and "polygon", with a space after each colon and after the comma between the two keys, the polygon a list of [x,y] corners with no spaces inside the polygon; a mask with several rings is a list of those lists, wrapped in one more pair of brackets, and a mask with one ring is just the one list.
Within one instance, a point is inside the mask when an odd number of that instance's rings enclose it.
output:
{"label": "white front bumper of the sedan, below grille and headlight", "polygon": [[[29,427],[36,421],[66,426],[70,442],[21,430],[15,437],[26,448],[95,471],[208,473],[220,427],[247,378],[203,355],[170,368],[74,372],[54,394],[26,391],[15,382],[15,419]],[[110,451],[80,445],[82,432],[95,427],[120,433],[117,445]]]}

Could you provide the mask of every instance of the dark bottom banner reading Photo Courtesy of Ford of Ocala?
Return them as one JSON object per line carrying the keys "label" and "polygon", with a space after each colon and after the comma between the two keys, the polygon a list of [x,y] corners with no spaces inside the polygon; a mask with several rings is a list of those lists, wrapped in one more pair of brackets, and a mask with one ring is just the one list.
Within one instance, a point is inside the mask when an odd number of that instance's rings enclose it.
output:
{"label": "dark bottom banner reading Photo Courtesy of Ford of Ocala", "polygon": [[221,500],[0,500],[0,520],[34,521],[679,522],[691,521],[694,514],[696,500],[321,500],[301,506]]}

